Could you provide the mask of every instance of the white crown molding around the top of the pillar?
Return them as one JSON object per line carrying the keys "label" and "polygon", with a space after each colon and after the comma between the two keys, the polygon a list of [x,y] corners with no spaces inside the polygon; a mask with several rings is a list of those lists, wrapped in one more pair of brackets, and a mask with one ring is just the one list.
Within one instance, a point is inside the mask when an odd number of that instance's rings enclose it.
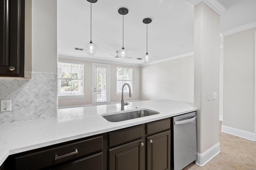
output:
{"label": "white crown molding around the top of the pillar", "polygon": [[217,12],[219,15],[223,14],[223,12],[226,10],[226,7],[223,6],[218,0],[187,0],[187,2],[193,6],[200,2],[204,2],[206,5],[208,5],[212,10]]}

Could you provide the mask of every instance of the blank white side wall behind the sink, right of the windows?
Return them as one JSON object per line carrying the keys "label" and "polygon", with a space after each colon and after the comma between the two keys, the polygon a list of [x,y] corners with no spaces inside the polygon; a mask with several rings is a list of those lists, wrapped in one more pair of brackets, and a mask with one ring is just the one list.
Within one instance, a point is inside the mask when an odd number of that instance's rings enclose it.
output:
{"label": "blank white side wall behind the sink, right of the windows", "polygon": [[194,56],[140,67],[141,100],[169,99],[193,103]]}

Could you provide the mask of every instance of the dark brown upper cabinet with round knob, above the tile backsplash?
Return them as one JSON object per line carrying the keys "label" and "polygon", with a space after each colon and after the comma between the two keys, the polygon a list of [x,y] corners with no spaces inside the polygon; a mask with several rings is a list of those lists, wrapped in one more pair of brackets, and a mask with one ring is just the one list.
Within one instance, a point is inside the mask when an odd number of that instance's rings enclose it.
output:
{"label": "dark brown upper cabinet with round knob, above the tile backsplash", "polygon": [[0,1],[0,76],[24,77],[25,0]]}

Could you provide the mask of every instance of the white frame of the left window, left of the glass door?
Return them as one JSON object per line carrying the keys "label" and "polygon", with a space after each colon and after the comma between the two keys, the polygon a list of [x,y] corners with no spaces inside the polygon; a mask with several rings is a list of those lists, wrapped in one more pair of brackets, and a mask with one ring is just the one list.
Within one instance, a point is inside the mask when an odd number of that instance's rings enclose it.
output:
{"label": "white frame of the left window, left of the glass door", "polygon": [[[82,95],[74,95],[74,96],[59,96],[59,92],[60,92],[60,83],[59,83],[59,80],[61,80],[62,78],[59,78],[59,63],[68,63],[68,64],[80,64],[83,66],[83,75],[82,75],[82,84],[83,84],[83,94]],[[76,63],[76,62],[69,62],[69,61],[58,61],[58,98],[59,99],[67,99],[67,98],[84,98],[84,63]],[[66,79],[66,78],[63,78],[63,79]],[[80,79],[72,79],[72,80],[80,80]]]}

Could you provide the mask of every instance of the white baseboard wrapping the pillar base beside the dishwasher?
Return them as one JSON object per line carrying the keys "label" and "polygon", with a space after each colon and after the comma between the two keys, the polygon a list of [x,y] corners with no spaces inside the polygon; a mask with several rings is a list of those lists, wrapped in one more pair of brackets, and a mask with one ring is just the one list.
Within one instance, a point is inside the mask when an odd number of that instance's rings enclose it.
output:
{"label": "white baseboard wrapping the pillar base beside the dishwasher", "polygon": [[199,166],[204,166],[207,164],[212,158],[217,156],[220,153],[220,143],[212,146],[210,149],[206,150],[204,153],[197,153],[196,164]]}

